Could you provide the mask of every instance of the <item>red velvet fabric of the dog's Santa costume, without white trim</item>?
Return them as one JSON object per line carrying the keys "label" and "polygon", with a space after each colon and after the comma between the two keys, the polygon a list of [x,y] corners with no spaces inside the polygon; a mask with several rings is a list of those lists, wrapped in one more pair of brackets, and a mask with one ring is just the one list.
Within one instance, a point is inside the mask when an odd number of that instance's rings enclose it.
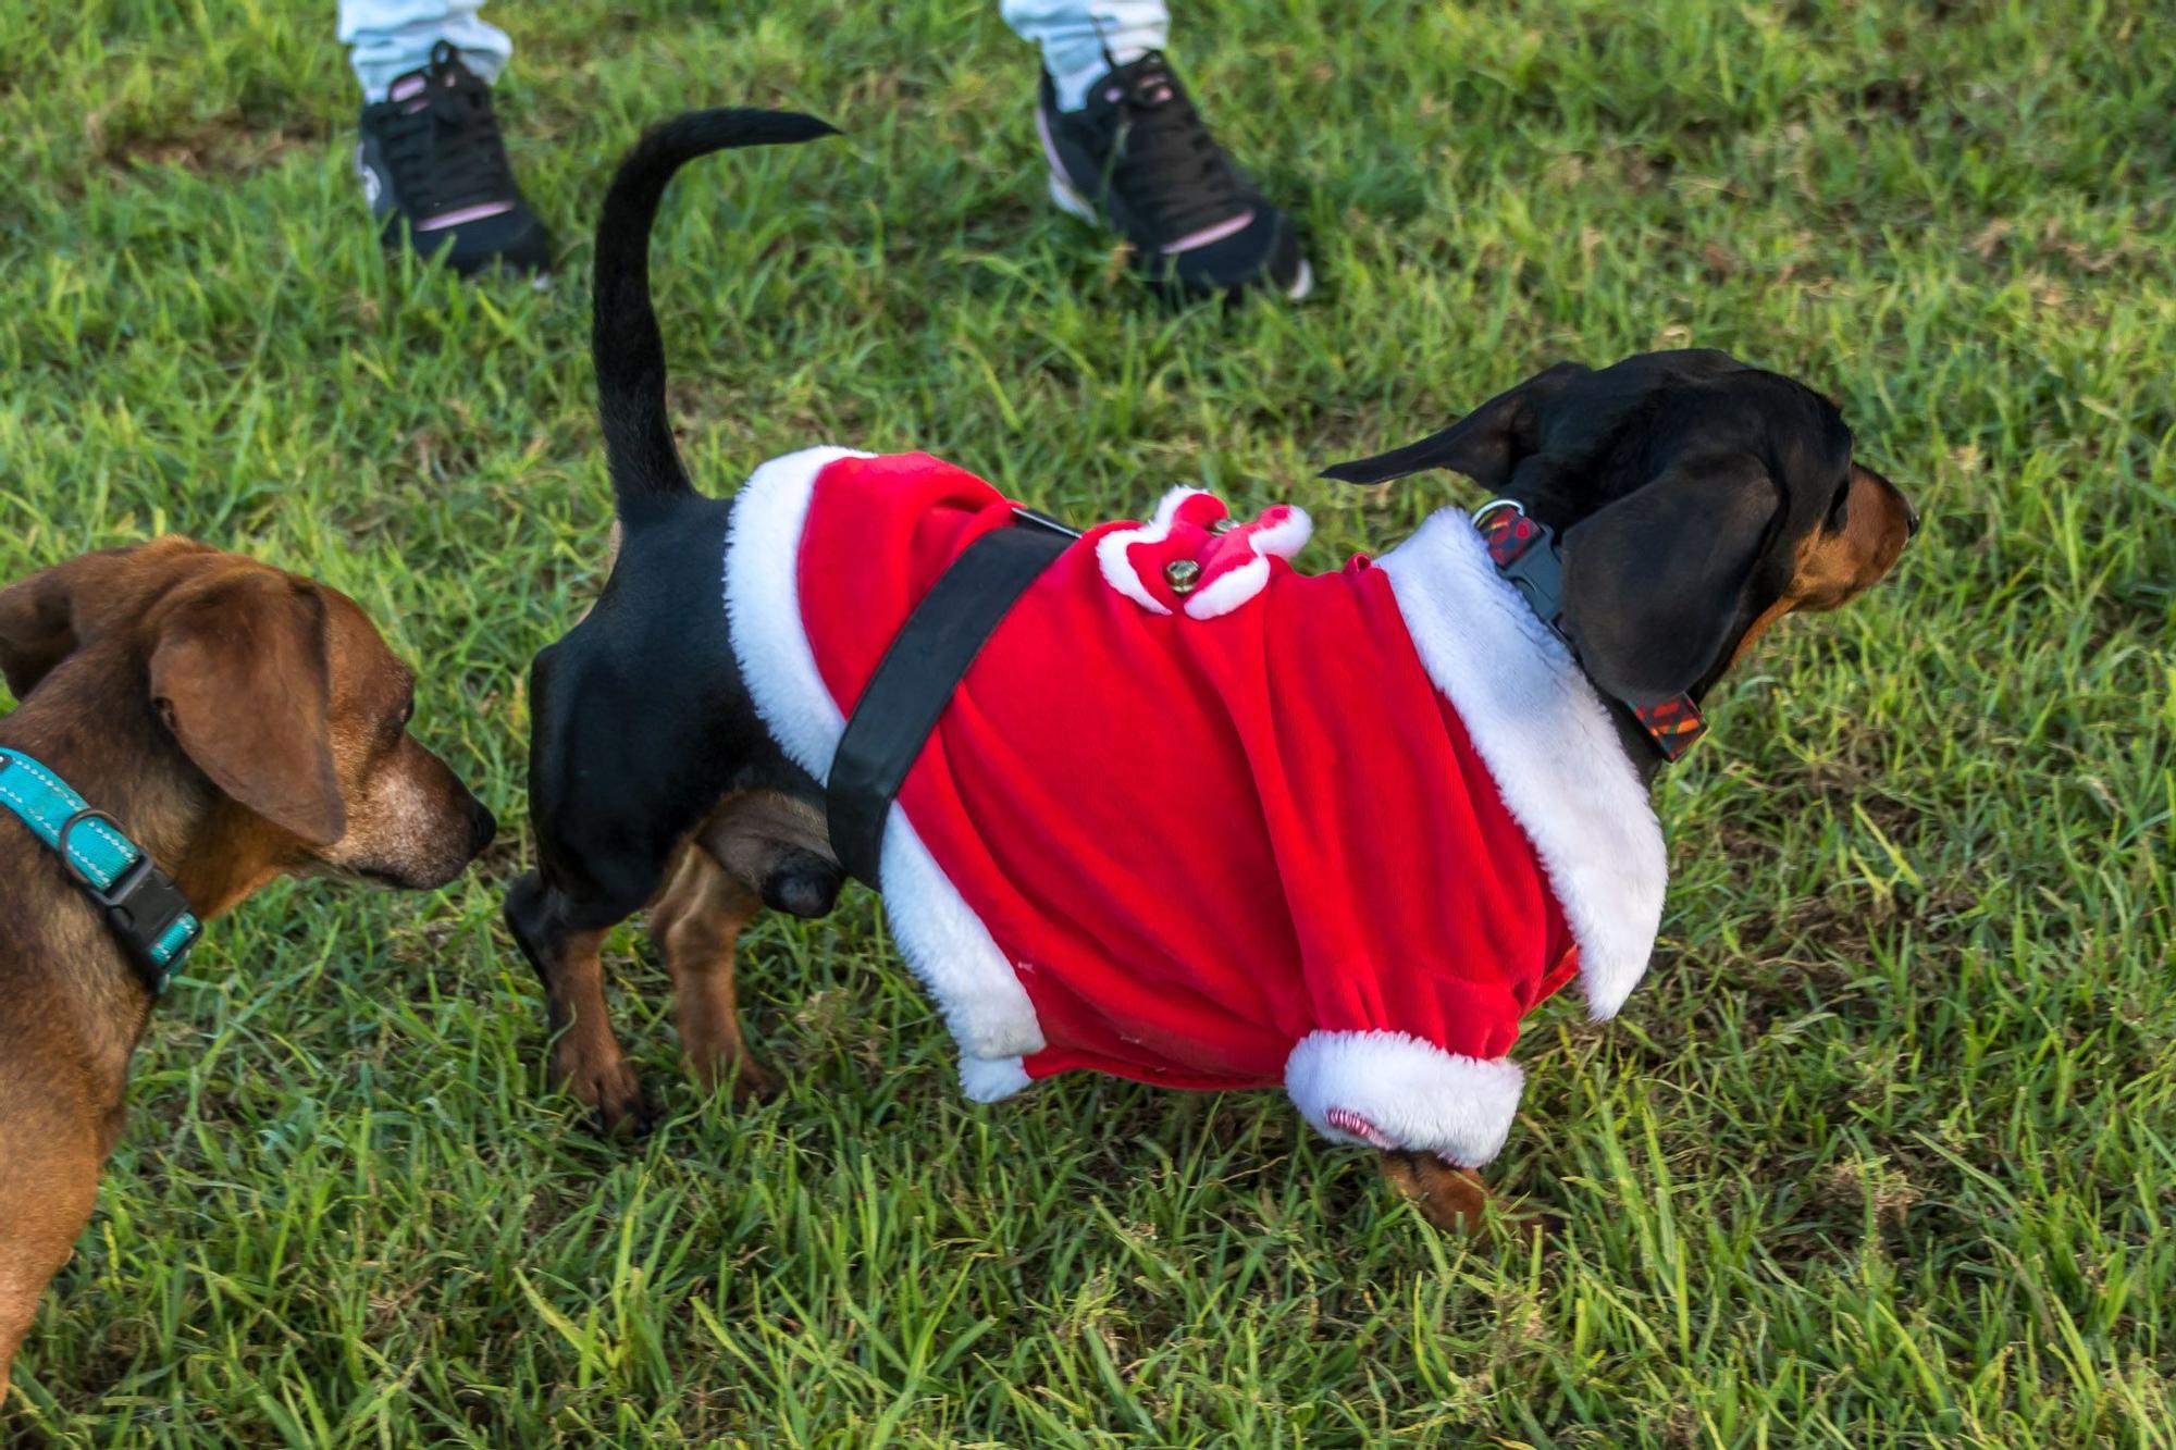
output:
{"label": "red velvet fabric of the dog's Santa costume, without white trim", "polygon": [[[801,623],[840,712],[907,612],[1010,503],[929,455],[823,468]],[[1271,560],[1219,618],[1108,581],[1103,525],[999,623],[899,803],[1014,962],[1031,1078],[1284,1080],[1308,1032],[1499,1058],[1575,975],[1532,843],[1430,681],[1388,581]],[[1171,605],[1177,527],[1125,557]]]}

